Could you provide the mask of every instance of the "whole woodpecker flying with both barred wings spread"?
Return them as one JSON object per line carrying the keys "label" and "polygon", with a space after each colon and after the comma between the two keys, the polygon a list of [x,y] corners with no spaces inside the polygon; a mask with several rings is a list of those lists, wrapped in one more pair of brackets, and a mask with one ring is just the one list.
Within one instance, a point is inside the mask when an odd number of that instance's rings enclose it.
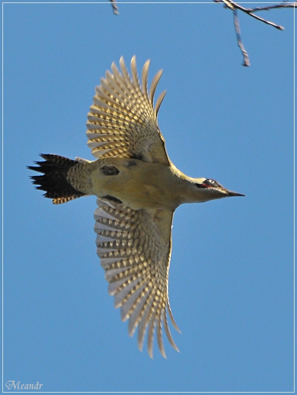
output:
{"label": "whole woodpecker flying with both barred wings spread", "polygon": [[124,58],[120,70],[115,63],[96,87],[87,121],[88,146],[96,160],[75,160],[42,154],[43,161],[29,169],[43,173],[31,178],[36,189],[54,204],[95,195],[96,245],[105,270],[108,292],[129,319],[129,334],[138,327],[138,348],[146,332],[148,354],[153,357],[154,332],[162,356],[166,357],[162,327],[176,347],[168,326],[171,313],[168,273],[171,228],[175,209],[182,203],[204,202],[222,197],[244,196],[229,191],[209,178],[192,178],[178,170],[168,158],[157,115],[164,99],[154,95],[160,70],[148,90],[150,61],[145,62],[141,83],[136,58],[131,74]]}

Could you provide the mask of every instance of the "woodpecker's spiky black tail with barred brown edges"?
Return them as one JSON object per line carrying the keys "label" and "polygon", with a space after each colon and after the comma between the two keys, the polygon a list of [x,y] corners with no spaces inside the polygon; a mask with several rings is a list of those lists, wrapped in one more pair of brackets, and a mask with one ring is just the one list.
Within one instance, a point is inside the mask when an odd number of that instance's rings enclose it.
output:
{"label": "woodpecker's spiky black tail with barred brown edges", "polygon": [[28,169],[43,173],[40,176],[31,176],[36,189],[45,191],[44,197],[53,199],[54,204],[66,203],[77,197],[85,196],[77,191],[67,180],[68,170],[78,164],[77,160],[61,157],[60,155],[41,154],[44,161],[34,162],[38,166],[27,166]]}

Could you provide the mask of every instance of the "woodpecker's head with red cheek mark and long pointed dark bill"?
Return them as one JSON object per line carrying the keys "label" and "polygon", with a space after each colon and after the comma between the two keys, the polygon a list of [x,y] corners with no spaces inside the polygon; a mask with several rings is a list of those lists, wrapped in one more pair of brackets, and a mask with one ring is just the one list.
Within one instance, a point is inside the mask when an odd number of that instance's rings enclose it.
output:
{"label": "woodpecker's head with red cheek mark and long pointed dark bill", "polygon": [[245,196],[226,189],[223,185],[210,178],[192,178],[191,190],[191,195],[196,202],[221,199],[223,197],[231,196]]}

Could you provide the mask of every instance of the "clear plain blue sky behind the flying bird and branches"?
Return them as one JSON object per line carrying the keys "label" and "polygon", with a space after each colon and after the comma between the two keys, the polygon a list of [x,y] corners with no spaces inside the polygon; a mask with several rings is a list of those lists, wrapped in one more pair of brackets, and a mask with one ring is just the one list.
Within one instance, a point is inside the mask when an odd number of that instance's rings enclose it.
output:
{"label": "clear plain blue sky behind the flying bird and branches", "polygon": [[[259,3],[260,4],[260,3]],[[257,4],[254,4],[257,5]],[[3,5],[3,382],[47,392],[294,390],[294,11],[221,4]],[[150,58],[173,163],[246,197],[177,209],[169,297],[180,354],[139,353],[96,255],[95,197],[54,206],[26,165],[92,159],[86,115],[111,62]],[[134,336],[135,337],[135,336]],[[5,387],[4,387],[5,389]]]}

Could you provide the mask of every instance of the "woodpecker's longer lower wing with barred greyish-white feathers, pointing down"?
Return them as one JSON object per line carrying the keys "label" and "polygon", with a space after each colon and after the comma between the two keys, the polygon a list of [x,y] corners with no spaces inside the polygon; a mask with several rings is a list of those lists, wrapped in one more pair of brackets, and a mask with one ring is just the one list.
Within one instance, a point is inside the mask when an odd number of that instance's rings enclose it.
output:
{"label": "woodpecker's longer lower wing with barred greyish-white feathers, pointing down", "polygon": [[155,327],[161,354],[165,356],[162,322],[171,346],[178,351],[167,323],[174,327],[168,299],[168,272],[171,253],[173,212],[132,210],[116,203],[97,200],[95,232],[97,254],[109,282],[108,292],[121,307],[121,318],[129,318],[129,334],[138,326],[141,351],[148,327],[148,353],[153,356]]}

